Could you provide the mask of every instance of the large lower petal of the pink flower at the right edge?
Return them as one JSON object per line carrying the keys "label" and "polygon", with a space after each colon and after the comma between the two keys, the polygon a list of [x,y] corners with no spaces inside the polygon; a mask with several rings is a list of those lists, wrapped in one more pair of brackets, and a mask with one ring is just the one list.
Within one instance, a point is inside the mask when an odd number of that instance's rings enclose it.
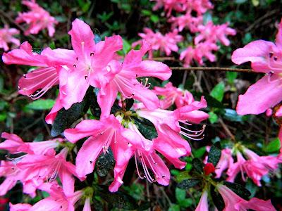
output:
{"label": "large lower petal of the pink flower at the right edge", "polygon": [[237,113],[239,115],[259,114],[276,104],[282,99],[281,78],[266,75],[247,89],[246,93],[239,96]]}

